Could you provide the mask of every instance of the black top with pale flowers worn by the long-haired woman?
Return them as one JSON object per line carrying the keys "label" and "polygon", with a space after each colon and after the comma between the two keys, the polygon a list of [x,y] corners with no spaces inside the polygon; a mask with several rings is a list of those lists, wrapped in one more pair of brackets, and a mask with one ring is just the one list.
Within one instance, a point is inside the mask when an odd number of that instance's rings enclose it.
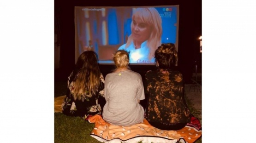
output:
{"label": "black top with pale flowers worn by the long-haired woman", "polygon": [[[74,71],[73,71],[74,72]],[[70,116],[81,116],[84,119],[86,119],[89,115],[95,115],[95,114],[101,114],[101,106],[100,103],[98,103],[98,100],[104,100],[104,77],[101,74],[100,75],[100,86],[98,89],[98,92],[96,95],[93,95],[92,97],[88,97],[89,92],[85,92],[83,94],[82,100],[74,100],[74,97],[72,96],[73,90],[74,90],[74,82],[73,80],[77,77],[79,72],[76,75],[73,75],[73,72],[71,72],[70,76],[68,77],[67,81],[67,94],[66,97],[63,100],[63,103],[61,105],[62,113]]]}

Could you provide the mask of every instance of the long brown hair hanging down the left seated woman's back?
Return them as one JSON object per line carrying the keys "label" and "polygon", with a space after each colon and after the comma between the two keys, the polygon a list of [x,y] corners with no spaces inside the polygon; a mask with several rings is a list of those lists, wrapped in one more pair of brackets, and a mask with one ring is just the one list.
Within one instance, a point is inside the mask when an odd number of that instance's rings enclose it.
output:
{"label": "long brown hair hanging down the left seated woman's back", "polygon": [[92,97],[98,92],[100,85],[100,68],[97,54],[94,51],[84,51],[77,60],[77,77],[74,80],[74,99],[82,99],[82,94],[89,92],[87,96]]}

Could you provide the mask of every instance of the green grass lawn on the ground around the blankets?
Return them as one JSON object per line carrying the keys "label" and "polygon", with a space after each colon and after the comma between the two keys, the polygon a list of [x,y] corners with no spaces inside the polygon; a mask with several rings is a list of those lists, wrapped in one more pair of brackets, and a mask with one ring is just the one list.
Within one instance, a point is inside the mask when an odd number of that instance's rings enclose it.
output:
{"label": "green grass lawn on the ground around the blankets", "polygon": [[[54,97],[65,95],[66,83],[54,85]],[[200,112],[194,108],[193,103],[185,96],[187,105],[195,117],[197,117],[201,124],[202,119]],[[94,128],[94,124],[83,120],[80,117],[70,117],[62,113],[54,113],[54,143],[101,143],[89,134]],[[143,142],[139,142],[143,143]],[[202,137],[199,138],[195,143],[202,143]]]}

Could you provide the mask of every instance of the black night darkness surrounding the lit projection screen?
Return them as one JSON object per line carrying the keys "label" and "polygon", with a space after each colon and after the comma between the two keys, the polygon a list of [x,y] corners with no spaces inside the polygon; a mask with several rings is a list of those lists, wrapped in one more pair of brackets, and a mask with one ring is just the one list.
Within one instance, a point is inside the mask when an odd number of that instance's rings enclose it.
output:
{"label": "black night darkness surrounding the lit projection screen", "polygon": [[[66,80],[75,66],[75,26],[74,6],[168,6],[179,5],[179,60],[177,69],[183,74],[185,83],[190,83],[195,72],[195,63],[198,73],[202,73],[202,53],[200,40],[202,35],[202,0],[155,0],[141,2],[128,1],[54,1],[54,28],[58,34],[60,44],[60,66],[54,69],[54,80]],[[149,69],[155,66],[130,65],[133,71],[144,76]],[[105,76],[114,68],[113,65],[100,65]]]}

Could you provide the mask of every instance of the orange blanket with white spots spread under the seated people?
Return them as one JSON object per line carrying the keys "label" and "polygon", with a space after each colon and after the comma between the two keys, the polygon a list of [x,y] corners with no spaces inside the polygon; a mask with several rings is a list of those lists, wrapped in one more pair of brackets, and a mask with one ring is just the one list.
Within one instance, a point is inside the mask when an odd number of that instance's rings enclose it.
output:
{"label": "orange blanket with white spots spread under the seated people", "polygon": [[191,126],[178,131],[160,130],[151,126],[146,119],[133,126],[111,125],[101,115],[94,115],[88,121],[95,123],[90,136],[104,143],[178,143],[180,138],[184,138],[186,143],[194,143],[202,136],[201,129]]}

